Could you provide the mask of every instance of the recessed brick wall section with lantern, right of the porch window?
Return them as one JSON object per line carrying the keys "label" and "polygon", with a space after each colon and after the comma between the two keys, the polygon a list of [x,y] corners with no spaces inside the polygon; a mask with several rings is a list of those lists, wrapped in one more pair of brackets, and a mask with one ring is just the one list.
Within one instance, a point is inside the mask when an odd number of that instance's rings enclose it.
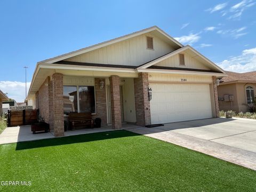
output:
{"label": "recessed brick wall section with lantern, right of the porch window", "polygon": [[[104,82],[103,89],[100,89],[100,82]],[[106,100],[106,82],[105,79],[95,78],[95,100],[96,100],[96,114],[93,119],[101,118],[101,126],[107,125],[107,100]]]}

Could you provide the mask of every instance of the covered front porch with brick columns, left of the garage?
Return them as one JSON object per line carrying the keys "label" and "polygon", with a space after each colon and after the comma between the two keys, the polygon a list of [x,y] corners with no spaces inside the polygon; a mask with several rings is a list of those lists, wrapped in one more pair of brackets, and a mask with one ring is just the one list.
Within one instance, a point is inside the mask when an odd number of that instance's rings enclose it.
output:
{"label": "covered front porch with brick columns, left of the garage", "polygon": [[49,75],[35,93],[35,107],[55,137],[65,135],[70,113],[90,113],[113,130],[150,124],[147,73],[41,70]]}

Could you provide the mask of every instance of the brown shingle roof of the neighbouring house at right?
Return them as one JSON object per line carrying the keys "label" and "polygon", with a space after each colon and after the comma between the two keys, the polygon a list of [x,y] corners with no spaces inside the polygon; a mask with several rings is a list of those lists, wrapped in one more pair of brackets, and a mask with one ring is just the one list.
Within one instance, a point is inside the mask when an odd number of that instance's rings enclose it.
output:
{"label": "brown shingle roof of the neighbouring house at right", "polygon": [[235,73],[232,71],[225,71],[228,75],[227,77],[222,77],[220,84],[229,83],[256,83],[256,71],[251,71],[247,73]]}

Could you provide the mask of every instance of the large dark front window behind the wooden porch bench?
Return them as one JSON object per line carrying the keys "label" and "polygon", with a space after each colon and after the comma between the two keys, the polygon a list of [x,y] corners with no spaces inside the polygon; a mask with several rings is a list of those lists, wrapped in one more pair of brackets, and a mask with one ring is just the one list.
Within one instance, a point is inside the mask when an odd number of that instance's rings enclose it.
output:
{"label": "large dark front window behind the wooden porch bench", "polygon": [[95,113],[94,86],[63,86],[63,110]]}

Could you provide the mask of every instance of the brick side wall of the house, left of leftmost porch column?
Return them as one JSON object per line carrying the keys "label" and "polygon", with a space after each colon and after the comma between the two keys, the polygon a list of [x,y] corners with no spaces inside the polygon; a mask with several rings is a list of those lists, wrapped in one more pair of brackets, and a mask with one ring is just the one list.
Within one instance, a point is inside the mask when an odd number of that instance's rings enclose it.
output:
{"label": "brick side wall of the house, left of leftmost porch column", "polygon": [[44,118],[46,123],[49,123],[49,87],[50,77],[47,77],[44,83],[38,90],[38,109],[39,114]]}

